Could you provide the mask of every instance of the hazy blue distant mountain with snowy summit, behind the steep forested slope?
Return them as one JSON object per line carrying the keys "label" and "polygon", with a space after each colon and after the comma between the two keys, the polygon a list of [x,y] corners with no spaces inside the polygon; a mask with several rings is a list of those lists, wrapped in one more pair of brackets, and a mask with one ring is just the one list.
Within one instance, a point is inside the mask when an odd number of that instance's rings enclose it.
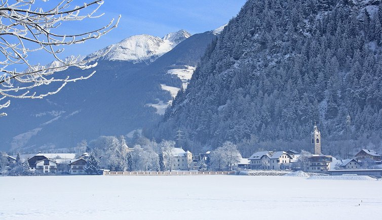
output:
{"label": "hazy blue distant mountain with snowy summit, behind the steep forested slope", "polygon": [[[86,57],[68,58],[87,59],[110,50],[93,69],[59,72],[87,75],[96,70],[90,79],[70,83],[48,99],[13,100],[7,109],[9,115],[1,118],[2,127],[7,129],[0,134],[0,149],[35,152],[70,148],[81,140],[126,135],[156,124],[176,95],[169,91],[188,83],[215,37],[213,31],[190,35],[180,30],[163,38],[142,34]],[[46,67],[49,65],[59,64]],[[184,78],[183,70],[188,78]],[[46,89],[57,86],[50,84]]]}

